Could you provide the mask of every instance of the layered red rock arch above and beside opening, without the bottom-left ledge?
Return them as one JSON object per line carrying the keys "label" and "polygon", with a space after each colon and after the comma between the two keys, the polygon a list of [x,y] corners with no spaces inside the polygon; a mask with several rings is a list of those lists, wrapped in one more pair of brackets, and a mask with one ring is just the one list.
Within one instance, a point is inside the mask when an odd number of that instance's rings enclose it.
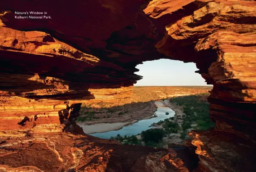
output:
{"label": "layered red rock arch above and beside opening, without the bottom-left ledge", "polygon": [[[30,10],[47,11],[52,19],[15,19],[15,11]],[[127,97],[141,78],[134,74],[137,64],[176,59],[196,63],[197,72],[214,85],[208,100],[215,131],[191,133],[199,169],[253,170],[253,159],[248,166],[241,162],[247,153],[255,154],[255,1],[13,0],[2,2],[0,11],[3,138],[62,131],[59,111],[98,95],[107,97],[109,89]],[[35,120],[38,116],[41,120]],[[27,125],[18,125],[24,117]],[[226,150],[231,156],[225,160],[213,147],[209,150],[209,143],[235,146]]]}

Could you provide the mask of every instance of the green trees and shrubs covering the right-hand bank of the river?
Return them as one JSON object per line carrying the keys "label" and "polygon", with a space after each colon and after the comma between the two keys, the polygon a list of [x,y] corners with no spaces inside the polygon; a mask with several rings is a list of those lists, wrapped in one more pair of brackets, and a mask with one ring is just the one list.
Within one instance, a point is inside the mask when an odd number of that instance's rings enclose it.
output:
{"label": "green trees and shrubs covering the right-hand bank of the river", "polygon": [[[174,140],[178,138],[176,141],[182,144],[183,139],[187,137],[186,133],[191,129],[208,130],[214,127],[214,123],[209,117],[208,96],[209,93],[173,97],[168,100],[171,103],[169,105],[168,101],[165,100],[166,106],[176,108],[177,115],[153,123],[152,125],[156,128],[142,131],[141,134],[129,137],[122,137],[117,134],[116,137],[111,137],[111,139],[120,141],[123,144],[166,147],[170,141],[172,141],[171,143],[176,143]],[[108,113],[111,113],[111,111],[108,111]],[[91,120],[95,114],[97,113],[86,113],[86,118],[84,117],[85,119],[81,120]],[[122,113],[117,115],[122,115]]]}

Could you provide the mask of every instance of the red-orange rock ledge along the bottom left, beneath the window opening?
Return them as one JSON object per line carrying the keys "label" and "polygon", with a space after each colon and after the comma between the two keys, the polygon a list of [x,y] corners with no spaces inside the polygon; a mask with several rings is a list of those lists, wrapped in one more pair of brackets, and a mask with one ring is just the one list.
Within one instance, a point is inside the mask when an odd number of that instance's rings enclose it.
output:
{"label": "red-orange rock ledge along the bottom left, beneath the window opening", "polygon": [[0,170],[3,172],[170,172],[182,167],[181,171],[188,172],[180,159],[164,149],[123,146],[117,141],[66,132],[15,134],[20,138],[1,136]]}

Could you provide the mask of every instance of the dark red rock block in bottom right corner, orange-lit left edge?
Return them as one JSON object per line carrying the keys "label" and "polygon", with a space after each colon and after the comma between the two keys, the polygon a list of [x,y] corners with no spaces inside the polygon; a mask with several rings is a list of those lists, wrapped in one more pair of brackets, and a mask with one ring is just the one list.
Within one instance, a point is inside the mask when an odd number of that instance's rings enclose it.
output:
{"label": "dark red rock block in bottom right corner, orange-lit left edge", "polygon": [[190,137],[200,159],[197,172],[255,171],[256,144],[252,141],[225,131],[193,131]]}

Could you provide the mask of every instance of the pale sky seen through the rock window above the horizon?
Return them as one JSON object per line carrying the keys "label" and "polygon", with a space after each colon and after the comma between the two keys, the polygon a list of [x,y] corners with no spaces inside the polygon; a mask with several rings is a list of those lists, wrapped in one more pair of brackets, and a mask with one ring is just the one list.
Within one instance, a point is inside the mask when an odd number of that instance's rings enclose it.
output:
{"label": "pale sky seen through the rock window above the horizon", "polygon": [[137,75],[143,78],[135,86],[177,86],[177,85],[207,85],[205,79],[198,73],[195,63],[183,63],[177,60],[159,59],[146,61],[136,66]]}

